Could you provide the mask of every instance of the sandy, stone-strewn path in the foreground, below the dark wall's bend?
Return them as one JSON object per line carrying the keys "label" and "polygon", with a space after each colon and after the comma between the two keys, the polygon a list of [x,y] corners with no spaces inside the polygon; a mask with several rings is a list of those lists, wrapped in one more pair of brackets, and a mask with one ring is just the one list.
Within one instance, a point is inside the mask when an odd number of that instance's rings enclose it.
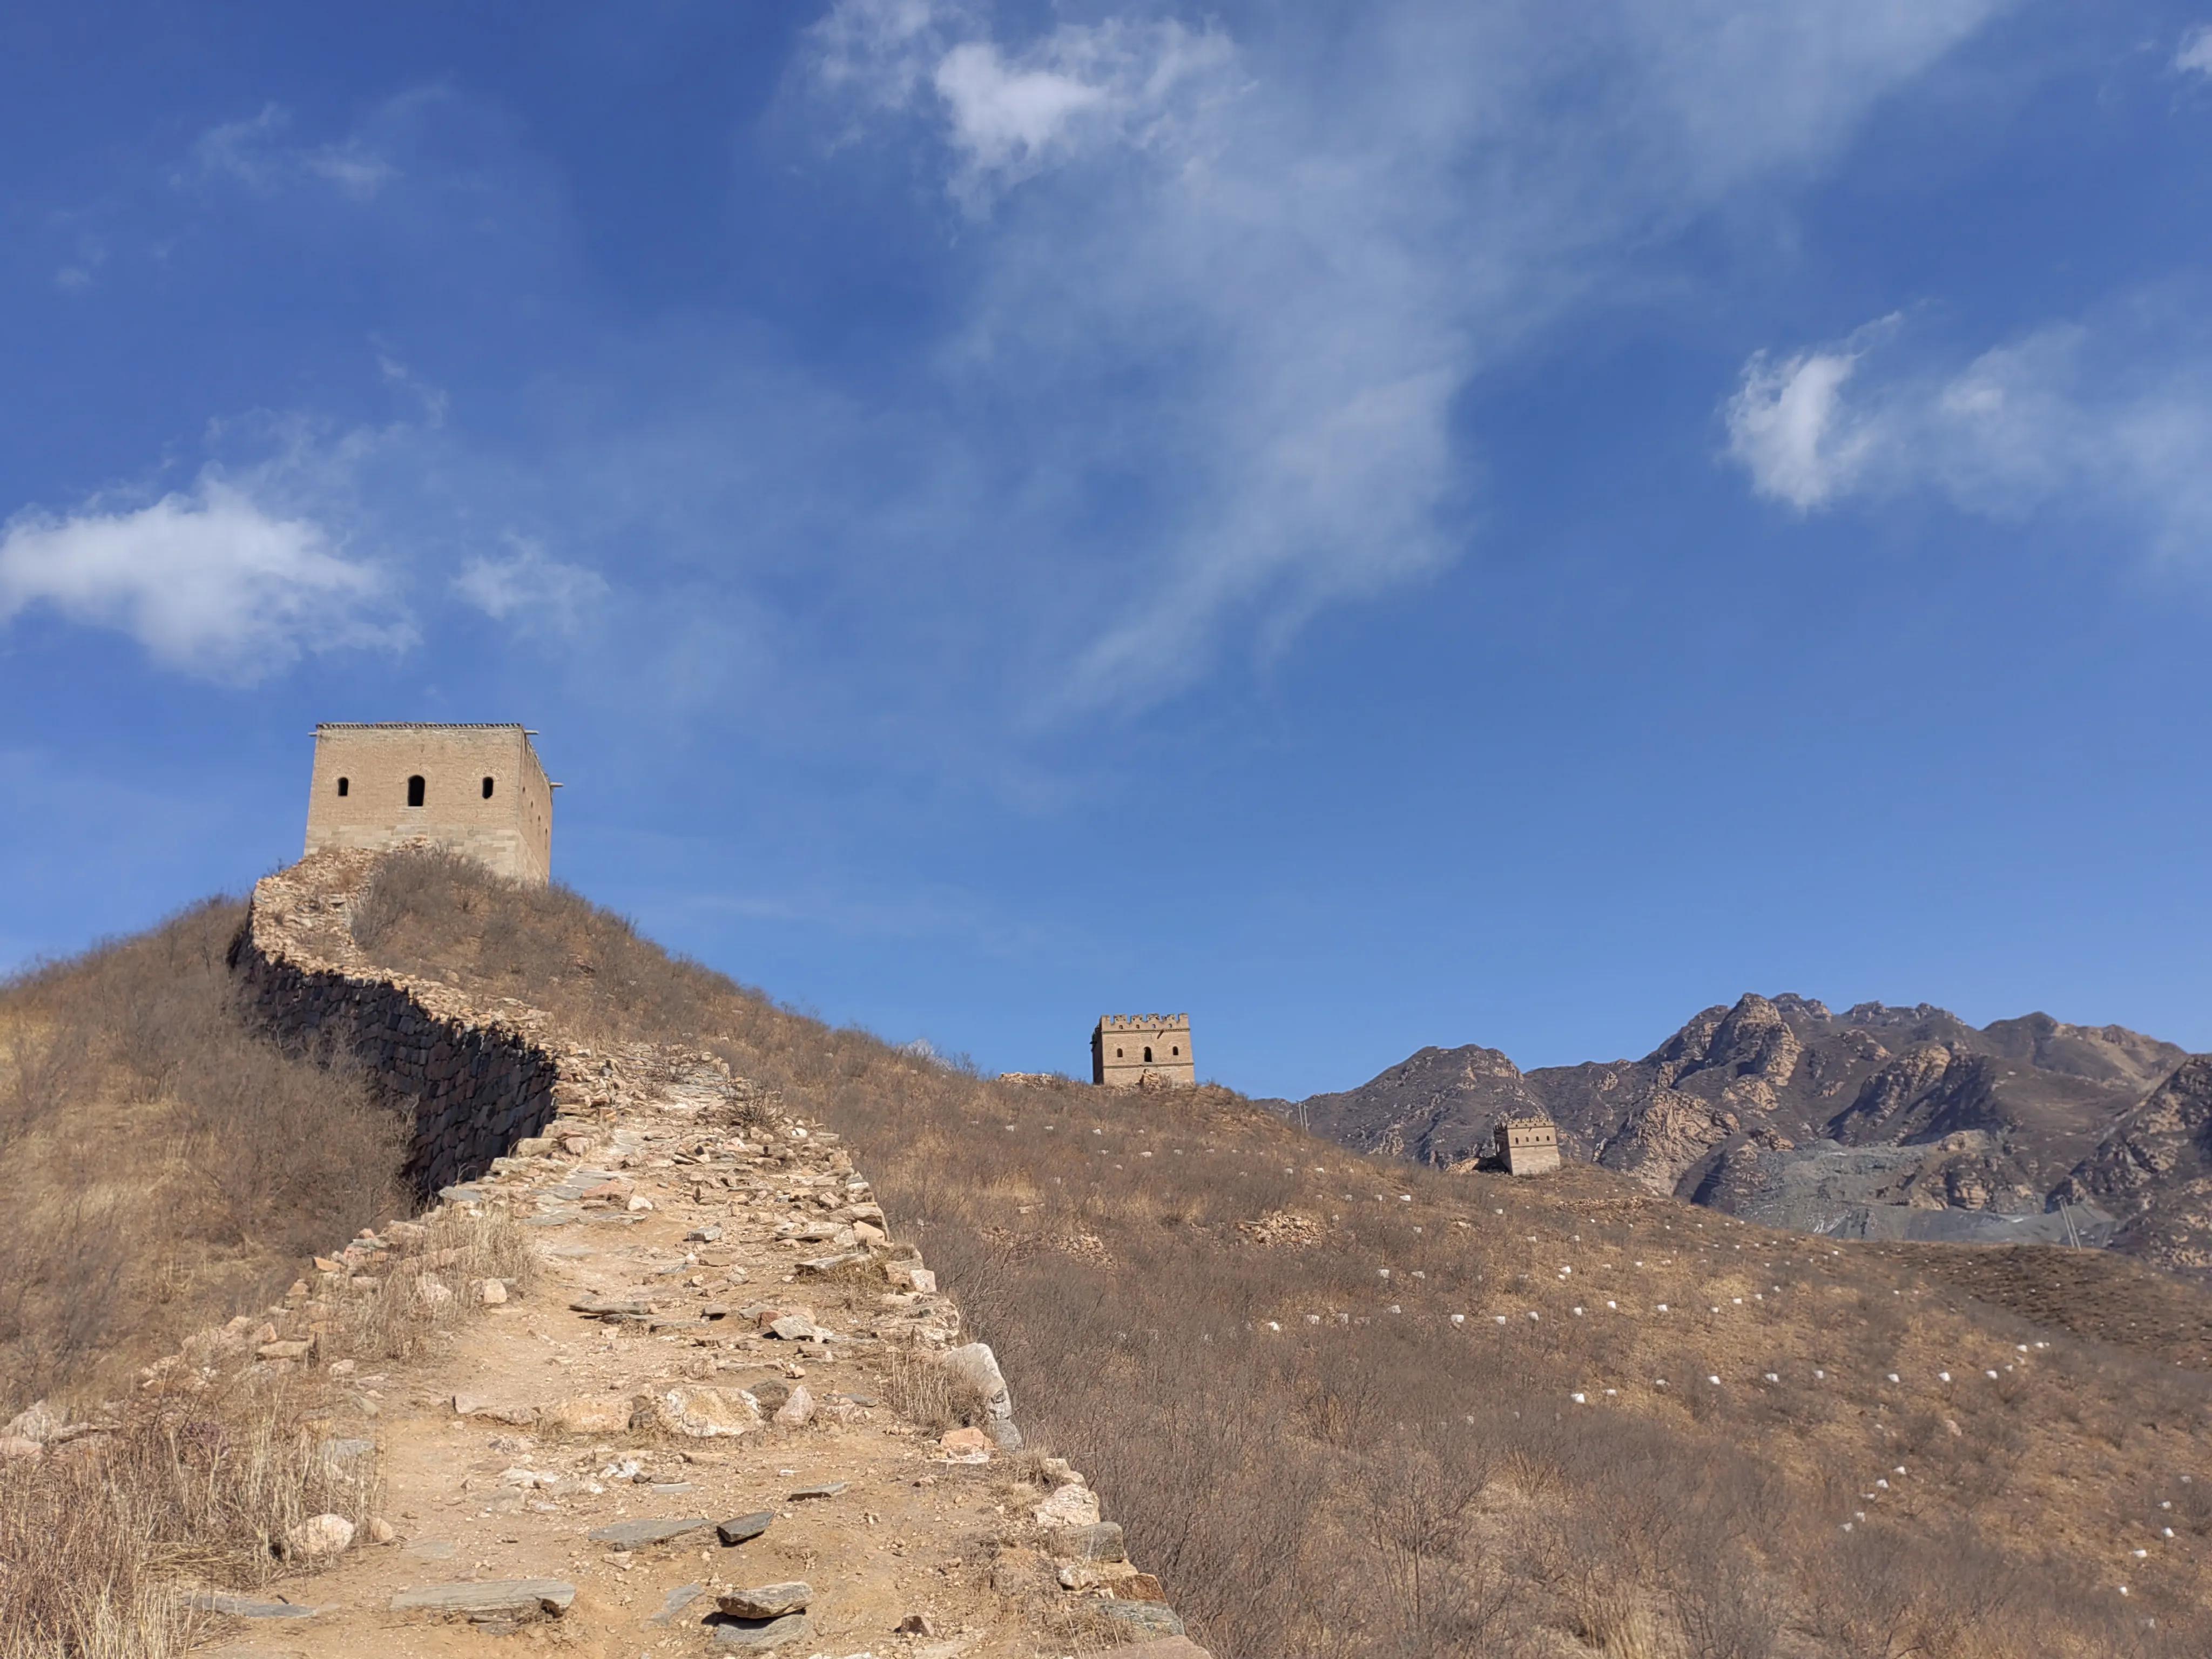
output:
{"label": "sandy, stone-strewn path in the foreground, below the dark wall's bend", "polygon": [[[522,1217],[538,1279],[431,1358],[343,1380],[332,1436],[376,1442],[394,1537],[363,1524],[279,1584],[312,1617],[219,1617],[210,1652],[1031,1659],[1177,1628],[1157,1601],[1060,1586],[1053,1555],[1117,1553],[1110,1528],[1079,1531],[1095,1502],[1064,1464],[949,1453],[894,1411],[891,1367],[956,1347],[958,1312],[927,1274],[894,1285],[918,1259],[880,1237],[834,1137],[739,1121],[703,1075],[566,1113],[520,1150],[449,1199]],[[1040,1526],[1046,1502],[1077,1526]],[[723,1544],[714,1524],[745,1515],[765,1528]],[[624,1522],[692,1524],[602,1533]],[[1124,1597],[1148,1588],[1102,1571]],[[790,1582],[807,1586],[796,1624],[717,1610]],[[480,1606],[409,1606],[425,1593]]]}

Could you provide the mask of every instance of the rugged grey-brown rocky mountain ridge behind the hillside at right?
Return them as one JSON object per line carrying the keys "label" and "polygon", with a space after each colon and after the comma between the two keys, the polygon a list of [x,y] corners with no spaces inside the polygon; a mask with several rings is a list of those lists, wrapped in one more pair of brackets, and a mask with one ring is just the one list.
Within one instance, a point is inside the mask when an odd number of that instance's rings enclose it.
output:
{"label": "rugged grey-brown rocky mountain ridge behind the hillside at right", "polygon": [[1290,1110],[1444,1168],[1537,1113],[1571,1157],[1770,1225],[2093,1243],[2212,1272],[2212,1060],[2126,1026],[1745,993],[1644,1060],[1524,1073],[1498,1048],[1422,1048]]}

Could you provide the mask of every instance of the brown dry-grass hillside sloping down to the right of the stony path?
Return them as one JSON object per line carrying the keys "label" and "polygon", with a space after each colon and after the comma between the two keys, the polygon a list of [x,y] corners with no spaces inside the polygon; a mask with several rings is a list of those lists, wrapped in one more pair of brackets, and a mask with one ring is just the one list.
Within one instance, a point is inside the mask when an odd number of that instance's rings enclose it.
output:
{"label": "brown dry-grass hillside sloping down to the right of the stony path", "polygon": [[[719,1048],[841,1130],[1024,1429],[1091,1471],[1223,1659],[2212,1646],[2203,1568],[2128,1553],[2212,1482],[2192,1354],[1595,1170],[1447,1177],[1221,1091],[1000,1086],[659,956],[562,889],[389,860],[378,894],[358,936],[389,964]],[[922,1369],[898,1389],[962,1418]]]}

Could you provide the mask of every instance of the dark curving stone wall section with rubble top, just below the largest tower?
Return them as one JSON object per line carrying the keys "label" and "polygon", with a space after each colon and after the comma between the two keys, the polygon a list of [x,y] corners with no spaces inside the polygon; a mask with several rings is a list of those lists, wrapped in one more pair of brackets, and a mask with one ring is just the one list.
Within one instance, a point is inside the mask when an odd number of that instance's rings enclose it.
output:
{"label": "dark curving stone wall section with rubble top, just below the largest tower", "polygon": [[352,1055],[389,1104],[407,1113],[414,1139],[405,1175],[427,1199],[473,1181],[491,1159],[553,1119],[560,1062],[524,1026],[484,1020],[467,1006],[436,1006],[453,1002],[440,995],[442,987],[332,962],[356,889],[341,876],[323,887],[336,891],[319,909],[296,874],[310,865],[341,874],[343,858],[323,854],[259,883],[230,967],[279,1042]]}

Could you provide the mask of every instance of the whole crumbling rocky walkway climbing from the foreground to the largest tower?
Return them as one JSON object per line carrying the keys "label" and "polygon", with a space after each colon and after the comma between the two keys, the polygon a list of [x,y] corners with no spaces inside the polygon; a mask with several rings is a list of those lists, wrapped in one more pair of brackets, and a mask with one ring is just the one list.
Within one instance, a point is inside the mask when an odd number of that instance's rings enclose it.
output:
{"label": "whole crumbling rocky walkway climbing from the foreground to the largest tower", "polygon": [[[520,1004],[372,969],[345,927],[369,867],[261,883],[241,973],[363,1057],[396,1048],[416,1068],[396,1093],[449,1144],[480,1144],[469,1099],[540,1133],[148,1369],[148,1389],[319,1378],[327,1458],[356,1471],[327,1486],[356,1513],[294,1528],[274,1588],[181,1586],[208,1650],[1201,1652],[1084,1475],[1022,1447],[991,1349],[834,1135],[712,1055],[564,1042]],[[458,1082],[469,1064],[493,1082]],[[544,1113],[515,1110],[515,1079]],[[520,1225],[535,1270],[469,1276],[440,1241],[478,1217]],[[347,1298],[394,1281],[478,1312],[407,1363],[330,1360]],[[18,1455],[73,1433],[11,1429]]]}

